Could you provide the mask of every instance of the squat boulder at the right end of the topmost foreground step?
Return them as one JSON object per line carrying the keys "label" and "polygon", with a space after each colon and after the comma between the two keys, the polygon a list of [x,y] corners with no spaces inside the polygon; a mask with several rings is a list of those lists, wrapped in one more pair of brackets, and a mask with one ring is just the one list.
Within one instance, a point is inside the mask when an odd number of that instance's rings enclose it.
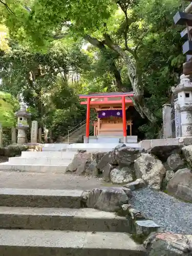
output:
{"label": "squat boulder at the right end of the topmost foreground step", "polygon": [[106,187],[94,188],[87,195],[87,207],[104,211],[118,211],[123,204],[129,202],[129,194],[122,188]]}

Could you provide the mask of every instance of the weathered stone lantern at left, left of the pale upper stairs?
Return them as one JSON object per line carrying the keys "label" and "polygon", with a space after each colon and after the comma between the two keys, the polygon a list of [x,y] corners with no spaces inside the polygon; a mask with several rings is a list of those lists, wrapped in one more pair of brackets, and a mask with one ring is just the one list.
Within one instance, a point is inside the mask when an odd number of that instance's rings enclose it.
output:
{"label": "weathered stone lantern at left, left of the pale upper stairs", "polygon": [[28,119],[31,117],[31,114],[26,111],[26,105],[24,103],[20,103],[20,110],[15,113],[17,117],[17,144],[25,144],[26,143],[26,131],[29,128],[29,124],[27,123]]}

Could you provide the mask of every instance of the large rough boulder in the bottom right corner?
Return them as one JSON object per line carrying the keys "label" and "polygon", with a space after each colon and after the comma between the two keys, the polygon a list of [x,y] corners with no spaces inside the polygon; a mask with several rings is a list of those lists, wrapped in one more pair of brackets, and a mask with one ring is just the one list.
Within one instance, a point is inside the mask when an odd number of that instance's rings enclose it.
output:
{"label": "large rough boulder in the bottom right corner", "polygon": [[144,241],[148,256],[191,256],[192,236],[176,233],[153,233]]}

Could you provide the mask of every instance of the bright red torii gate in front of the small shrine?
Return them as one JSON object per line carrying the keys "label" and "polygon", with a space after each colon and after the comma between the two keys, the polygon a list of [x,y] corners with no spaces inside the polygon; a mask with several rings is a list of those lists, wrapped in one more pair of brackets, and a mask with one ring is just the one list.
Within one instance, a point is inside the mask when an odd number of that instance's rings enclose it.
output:
{"label": "bright red torii gate in front of the small shrine", "polygon": [[[80,104],[87,105],[87,118],[86,118],[86,143],[89,143],[89,130],[90,130],[90,108],[91,106],[96,105],[122,105],[122,121],[123,121],[123,143],[127,143],[127,135],[126,135],[126,106],[125,104],[133,105],[133,101],[130,97],[133,97],[134,93],[95,93],[89,95],[79,95],[80,99],[87,99],[86,101],[81,101]],[[99,101],[100,98],[103,100]],[[114,100],[109,100],[109,98],[114,98]],[[118,99],[115,99],[118,98]],[[120,99],[119,99],[120,98]],[[95,100],[91,100],[95,99]],[[97,100],[98,99],[98,100]]]}

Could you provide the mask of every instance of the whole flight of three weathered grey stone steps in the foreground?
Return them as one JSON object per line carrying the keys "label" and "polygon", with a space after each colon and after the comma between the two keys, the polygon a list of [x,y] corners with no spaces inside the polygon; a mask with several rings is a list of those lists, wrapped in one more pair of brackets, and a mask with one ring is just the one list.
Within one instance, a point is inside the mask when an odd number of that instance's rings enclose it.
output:
{"label": "whole flight of three weathered grey stone steps in the foreground", "polygon": [[0,189],[4,256],[144,256],[124,217],[81,207],[82,190]]}

